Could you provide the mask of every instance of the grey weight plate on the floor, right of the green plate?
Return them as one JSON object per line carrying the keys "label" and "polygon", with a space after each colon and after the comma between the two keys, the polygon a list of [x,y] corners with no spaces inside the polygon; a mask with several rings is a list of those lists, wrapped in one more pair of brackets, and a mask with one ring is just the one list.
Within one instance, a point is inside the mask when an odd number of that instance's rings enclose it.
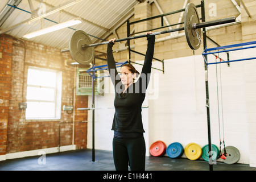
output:
{"label": "grey weight plate on the floor, right of the green plate", "polygon": [[[221,154],[224,153],[224,149],[221,150]],[[228,146],[226,147],[226,153],[228,154],[226,156],[226,159],[222,161],[226,164],[234,164],[237,163],[240,159],[240,152],[237,150],[236,147]]]}

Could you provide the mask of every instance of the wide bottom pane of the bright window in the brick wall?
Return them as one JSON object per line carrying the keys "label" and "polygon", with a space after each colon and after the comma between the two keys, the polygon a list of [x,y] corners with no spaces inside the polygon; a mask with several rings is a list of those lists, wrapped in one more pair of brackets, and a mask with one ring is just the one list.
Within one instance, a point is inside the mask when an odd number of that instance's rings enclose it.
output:
{"label": "wide bottom pane of the bright window in the brick wall", "polygon": [[26,118],[54,118],[55,104],[51,102],[27,102]]}

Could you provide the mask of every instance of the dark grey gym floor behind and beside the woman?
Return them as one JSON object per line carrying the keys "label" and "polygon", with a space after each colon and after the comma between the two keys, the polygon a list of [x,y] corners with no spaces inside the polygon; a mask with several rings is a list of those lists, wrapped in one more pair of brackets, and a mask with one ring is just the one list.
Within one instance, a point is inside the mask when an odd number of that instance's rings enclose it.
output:
{"label": "dark grey gym floor behind and beside the woman", "polygon": [[[115,171],[112,151],[96,150],[95,162],[92,162],[92,150],[89,149],[46,154],[45,164],[38,163],[39,157],[0,161],[0,171]],[[209,163],[204,160],[147,156],[146,171],[209,171]],[[247,164],[217,162],[213,165],[213,171],[256,171],[256,168]]]}

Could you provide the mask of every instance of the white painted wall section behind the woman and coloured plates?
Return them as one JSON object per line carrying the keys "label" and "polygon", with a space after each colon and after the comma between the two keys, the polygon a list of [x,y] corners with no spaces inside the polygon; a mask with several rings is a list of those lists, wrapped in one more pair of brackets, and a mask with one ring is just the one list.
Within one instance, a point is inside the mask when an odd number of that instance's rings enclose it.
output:
{"label": "white painted wall section behind the woman and coloured plates", "polygon": [[[230,60],[255,57],[255,52],[255,49],[234,51],[230,53]],[[220,56],[226,59],[226,56]],[[209,61],[215,61],[215,58],[209,56]],[[141,71],[141,66],[135,65],[135,67]],[[162,68],[162,63],[154,61],[153,67]],[[220,134],[221,140],[223,139],[221,113],[223,109],[225,145],[236,147],[240,151],[241,158],[238,163],[250,164],[252,167],[256,166],[255,70],[256,60],[230,63],[230,67],[226,63],[217,64],[221,125],[221,133],[219,133],[216,65],[209,65],[208,68],[212,144],[219,147]],[[143,109],[147,155],[150,145],[156,140],[162,140],[167,146],[179,142],[184,148],[191,142],[199,144],[200,147],[208,144],[203,57],[199,55],[164,60],[164,71],[163,74],[152,69],[151,85],[148,86],[146,104],[143,104],[149,106],[148,109]],[[113,87],[109,78],[105,81]],[[105,90],[107,89],[109,88],[105,85]],[[114,94],[105,93],[104,96],[96,96],[95,106],[113,107],[113,101]],[[96,149],[112,150],[113,115],[114,109],[96,110]],[[88,120],[91,121],[90,114]],[[90,148],[92,129],[91,123],[88,124],[88,148]]]}

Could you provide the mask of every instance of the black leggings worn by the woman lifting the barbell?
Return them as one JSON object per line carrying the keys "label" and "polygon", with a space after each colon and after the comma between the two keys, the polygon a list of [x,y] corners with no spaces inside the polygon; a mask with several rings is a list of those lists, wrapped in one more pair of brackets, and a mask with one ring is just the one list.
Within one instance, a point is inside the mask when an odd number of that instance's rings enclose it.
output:
{"label": "black leggings worn by the woman lifting the barbell", "polygon": [[144,137],[113,138],[113,156],[115,169],[127,171],[128,162],[131,171],[145,170],[146,145]]}

